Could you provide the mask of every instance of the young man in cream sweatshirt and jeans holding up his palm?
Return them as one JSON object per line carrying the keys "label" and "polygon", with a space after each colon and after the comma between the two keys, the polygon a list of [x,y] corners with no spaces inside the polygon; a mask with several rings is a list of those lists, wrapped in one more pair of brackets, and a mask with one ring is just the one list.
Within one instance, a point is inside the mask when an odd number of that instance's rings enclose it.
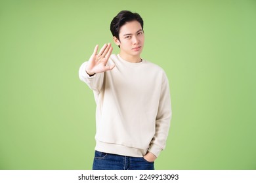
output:
{"label": "young man in cream sweatshirt and jeans holding up his palm", "polygon": [[144,31],[139,14],[119,12],[110,30],[119,54],[112,54],[110,43],[99,52],[97,45],[79,69],[96,101],[93,169],[154,169],[171,120],[167,76],[140,58]]}

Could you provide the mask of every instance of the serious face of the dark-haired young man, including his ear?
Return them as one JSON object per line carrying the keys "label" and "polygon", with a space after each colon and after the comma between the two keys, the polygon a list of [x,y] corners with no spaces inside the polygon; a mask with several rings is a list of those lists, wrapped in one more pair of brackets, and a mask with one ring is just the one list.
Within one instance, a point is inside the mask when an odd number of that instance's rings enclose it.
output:
{"label": "serious face of the dark-haired young man, including his ear", "polygon": [[127,22],[119,30],[119,41],[114,41],[120,46],[120,53],[127,56],[140,56],[144,46],[144,32],[138,21]]}

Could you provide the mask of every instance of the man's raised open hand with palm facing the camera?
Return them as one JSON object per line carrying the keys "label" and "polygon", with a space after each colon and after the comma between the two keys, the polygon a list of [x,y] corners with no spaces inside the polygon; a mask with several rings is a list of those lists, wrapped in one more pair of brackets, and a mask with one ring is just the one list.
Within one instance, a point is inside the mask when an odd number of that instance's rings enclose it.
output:
{"label": "man's raised open hand with palm facing the camera", "polygon": [[104,44],[104,46],[102,46],[102,48],[100,49],[100,52],[98,52],[97,54],[98,45],[96,45],[95,50],[87,63],[87,74],[92,76],[95,75],[95,73],[103,73],[105,71],[112,70],[115,65],[106,65],[106,63],[108,63],[108,59],[110,58],[112,50],[113,48],[110,43]]}

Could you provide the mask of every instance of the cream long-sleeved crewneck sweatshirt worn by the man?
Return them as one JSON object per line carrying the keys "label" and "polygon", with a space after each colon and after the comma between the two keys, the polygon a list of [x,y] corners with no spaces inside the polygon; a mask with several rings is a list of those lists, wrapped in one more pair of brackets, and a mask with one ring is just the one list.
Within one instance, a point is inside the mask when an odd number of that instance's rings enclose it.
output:
{"label": "cream long-sleeved crewneck sweatshirt worn by the man", "polygon": [[171,97],[167,76],[161,67],[142,60],[125,61],[112,54],[112,71],[87,75],[87,62],[79,78],[93,90],[96,101],[95,150],[123,156],[159,156],[165,148]]}

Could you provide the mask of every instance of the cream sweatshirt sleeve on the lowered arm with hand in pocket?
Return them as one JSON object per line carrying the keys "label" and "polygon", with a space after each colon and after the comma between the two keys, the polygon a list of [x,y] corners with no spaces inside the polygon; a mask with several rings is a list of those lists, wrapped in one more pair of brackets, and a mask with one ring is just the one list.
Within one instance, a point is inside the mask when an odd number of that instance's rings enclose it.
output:
{"label": "cream sweatshirt sleeve on the lowered arm with hand in pocket", "polygon": [[158,157],[161,150],[165,148],[171,116],[172,112],[169,82],[167,76],[163,72],[158,114],[156,116],[156,133],[151,141],[150,148],[148,149],[148,151],[152,152],[156,157]]}

